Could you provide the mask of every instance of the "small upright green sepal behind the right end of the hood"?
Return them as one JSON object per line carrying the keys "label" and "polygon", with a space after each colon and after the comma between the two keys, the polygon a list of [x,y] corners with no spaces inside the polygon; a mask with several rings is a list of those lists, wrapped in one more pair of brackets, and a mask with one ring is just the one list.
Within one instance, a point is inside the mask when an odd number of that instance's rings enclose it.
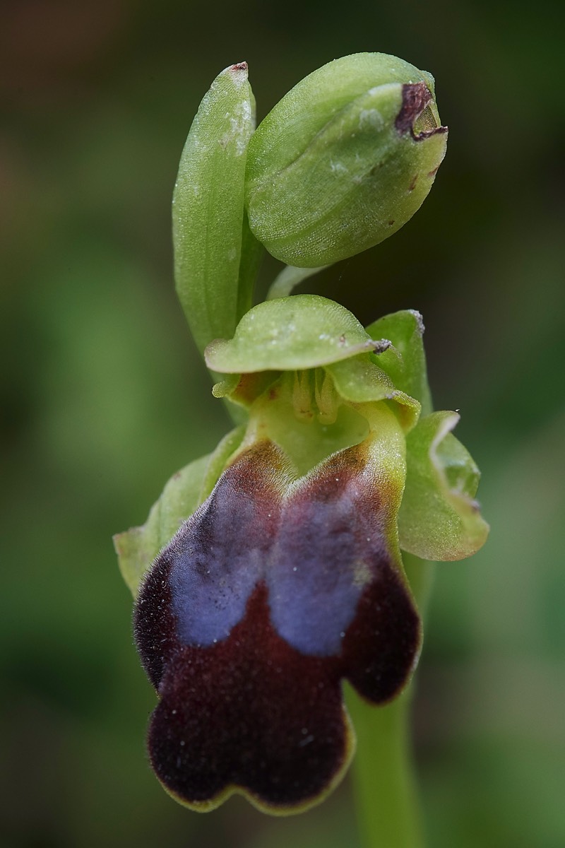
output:
{"label": "small upright green sepal behind the right end of the hood", "polygon": [[432,410],[429,395],[426,357],[424,353],[424,322],[416,310],[402,310],[385,315],[367,327],[374,339],[388,339],[392,347],[379,354],[379,367],[391,377],[395,387],[422,404],[422,412]]}

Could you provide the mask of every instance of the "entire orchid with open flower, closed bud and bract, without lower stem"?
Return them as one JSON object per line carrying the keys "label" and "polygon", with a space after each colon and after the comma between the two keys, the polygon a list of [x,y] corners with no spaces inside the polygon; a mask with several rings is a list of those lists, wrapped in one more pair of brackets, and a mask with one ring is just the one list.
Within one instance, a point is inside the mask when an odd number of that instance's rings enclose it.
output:
{"label": "entire orchid with open flower, closed bud and bract, without lower stem", "polygon": [[[432,410],[418,312],[363,328],[288,294],[423,202],[446,142],[432,78],[357,54],[257,131],[253,112],[234,65],[195,119],[174,203],[180,300],[241,424],[115,544],[159,697],[148,751],[164,788],[195,810],[239,792],[286,813],[352,759],[342,682],[378,706],[413,674],[422,622],[402,552],[460,559],[488,526],[459,416]],[[289,268],[251,307],[262,245]]]}

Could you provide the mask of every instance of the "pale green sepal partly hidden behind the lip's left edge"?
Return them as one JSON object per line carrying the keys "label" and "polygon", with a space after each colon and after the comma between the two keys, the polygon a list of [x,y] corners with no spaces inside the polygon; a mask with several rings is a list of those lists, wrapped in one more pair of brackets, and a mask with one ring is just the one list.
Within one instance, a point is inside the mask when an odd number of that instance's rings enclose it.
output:
{"label": "pale green sepal partly hidden behind the lip's left edge", "polygon": [[208,498],[230,455],[239,447],[244,429],[232,430],[212,454],[189,462],[177,471],[152,505],[145,524],[114,536],[119,570],[134,598],[159,551],[169,544],[182,522]]}

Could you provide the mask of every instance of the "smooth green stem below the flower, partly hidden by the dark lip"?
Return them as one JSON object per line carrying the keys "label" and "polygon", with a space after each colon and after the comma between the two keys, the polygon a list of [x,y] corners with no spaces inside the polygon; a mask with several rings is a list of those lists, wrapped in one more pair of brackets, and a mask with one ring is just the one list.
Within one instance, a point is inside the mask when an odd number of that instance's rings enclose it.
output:
{"label": "smooth green stem below the flower, partly hidden by the dark lip", "polygon": [[[420,614],[429,595],[432,563],[403,555]],[[351,689],[347,704],[357,732],[353,791],[363,848],[424,848],[410,740],[413,683],[391,704],[376,708]]]}

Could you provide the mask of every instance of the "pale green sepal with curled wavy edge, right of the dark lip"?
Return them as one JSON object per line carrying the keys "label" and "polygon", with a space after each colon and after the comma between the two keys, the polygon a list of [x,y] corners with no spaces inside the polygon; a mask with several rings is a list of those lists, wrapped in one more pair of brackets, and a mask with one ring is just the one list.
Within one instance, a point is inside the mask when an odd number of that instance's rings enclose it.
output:
{"label": "pale green sepal with curled wavy edge, right of the dark lip", "polygon": [[407,435],[398,533],[401,548],[424,560],[461,560],[489,533],[474,499],[479,469],[451,435],[457,421],[457,412],[433,412]]}

